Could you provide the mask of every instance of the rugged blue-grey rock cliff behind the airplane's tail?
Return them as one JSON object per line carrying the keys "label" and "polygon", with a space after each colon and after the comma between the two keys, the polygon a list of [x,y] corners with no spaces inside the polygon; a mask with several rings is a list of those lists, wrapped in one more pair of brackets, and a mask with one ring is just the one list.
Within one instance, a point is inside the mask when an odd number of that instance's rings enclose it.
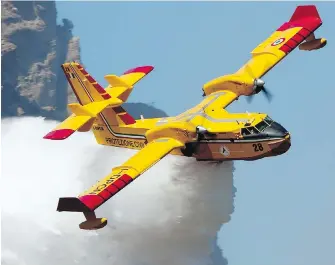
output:
{"label": "rugged blue-grey rock cliff behind the airplane's tail", "polygon": [[[60,65],[81,61],[72,22],[57,25],[54,1],[2,1],[1,11],[1,117],[65,119],[76,98]],[[137,118],[167,116],[142,103],[125,108]]]}

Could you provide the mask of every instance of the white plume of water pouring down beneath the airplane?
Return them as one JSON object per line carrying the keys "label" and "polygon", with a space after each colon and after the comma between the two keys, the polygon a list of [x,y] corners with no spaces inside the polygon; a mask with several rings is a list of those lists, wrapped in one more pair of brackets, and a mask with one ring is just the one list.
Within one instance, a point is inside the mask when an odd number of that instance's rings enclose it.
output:
{"label": "white plume of water pouring down beneath the airplane", "polygon": [[97,211],[108,225],[83,231],[80,213],[56,211],[136,151],[97,145],[90,133],[42,137],[57,123],[2,120],[2,264],[227,264],[213,241],[233,212],[233,163],[166,156]]}

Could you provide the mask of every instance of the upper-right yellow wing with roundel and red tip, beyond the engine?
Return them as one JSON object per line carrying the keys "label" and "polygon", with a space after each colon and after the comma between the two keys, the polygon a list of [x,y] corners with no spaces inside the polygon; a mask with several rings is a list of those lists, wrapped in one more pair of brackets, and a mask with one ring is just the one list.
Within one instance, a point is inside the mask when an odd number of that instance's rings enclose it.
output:
{"label": "upper-right yellow wing with roundel and red tip, beyond the engine", "polygon": [[[243,94],[240,85],[253,86],[254,80],[264,76],[283,60],[298,45],[300,50],[316,50],[326,45],[325,39],[315,39],[314,31],[322,25],[322,20],[314,5],[298,6],[288,22],[282,24],[252,52],[252,58],[237,72],[224,75],[207,82],[204,93],[209,95],[218,90],[231,90]],[[304,43],[302,43],[306,40]]]}

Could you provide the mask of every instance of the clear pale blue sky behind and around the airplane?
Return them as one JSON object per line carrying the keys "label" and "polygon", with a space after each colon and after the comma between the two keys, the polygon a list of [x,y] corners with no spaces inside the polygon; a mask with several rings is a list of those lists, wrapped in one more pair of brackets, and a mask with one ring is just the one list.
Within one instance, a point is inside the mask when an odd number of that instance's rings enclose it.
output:
{"label": "clear pale blue sky behind and around the airplane", "polygon": [[[266,112],[292,134],[283,156],[236,162],[235,212],[220,232],[231,265],[335,264],[334,3],[318,3],[328,39],[318,51],[295,50],[264,80],[259,94],[230,111]],[[82,60],[101,84],[105,74],[151,64],[131,102],[154,102],[171,115],[198,103],[201,87],[233,73],[251,50],[303,2],[58,2],[73,21]]]}

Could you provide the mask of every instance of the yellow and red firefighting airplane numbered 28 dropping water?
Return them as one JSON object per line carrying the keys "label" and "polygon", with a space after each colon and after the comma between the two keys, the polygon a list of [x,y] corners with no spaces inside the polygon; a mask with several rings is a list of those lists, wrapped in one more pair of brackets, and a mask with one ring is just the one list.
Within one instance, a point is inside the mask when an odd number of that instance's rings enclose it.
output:
{"label": "yellow and red firefighting airplane numbered 28 dropping water", "polygon": [[99,229],[106,218],[96,218],[94,210],[167,154],[197,160],[256,160],[285,153],[290,134],[266,114],[228,113],[225,108],[239,96],[263,91],[260,78],[293,49],[316,50],[326,45],[315,39],[322,25],[315,6],[298,6],[288,22],[281,25],[252,52],[252,58],[237,72],[218,77],[203,86],[204,99],[192,109],[167,118],[135,120],[122,104],[133,86],[153,70],[151,66],[131,69],[121,76],[106,75],[104,89],[75,62],[62,65],[79,103],[69,104],[72,115],[44,136],[64,140],[75,131],[93,130],[98,144],[137,149],[124,164],[78,197],[60,198],[58,211],[83,212],[81,229]]}

